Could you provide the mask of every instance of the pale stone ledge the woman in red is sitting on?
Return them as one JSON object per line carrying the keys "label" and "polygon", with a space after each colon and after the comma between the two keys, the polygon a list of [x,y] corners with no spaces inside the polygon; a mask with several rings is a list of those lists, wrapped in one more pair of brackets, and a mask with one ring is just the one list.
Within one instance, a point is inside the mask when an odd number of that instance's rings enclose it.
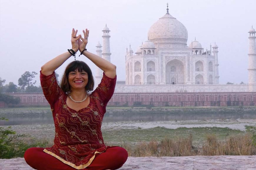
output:
{"label": "pale stone ledge the woman in red is sitting on", "polygon": [[[0,159],[0,170],[33,170],[24,158]],[[119,170],[255,170],[253,156],[128,157]]]}

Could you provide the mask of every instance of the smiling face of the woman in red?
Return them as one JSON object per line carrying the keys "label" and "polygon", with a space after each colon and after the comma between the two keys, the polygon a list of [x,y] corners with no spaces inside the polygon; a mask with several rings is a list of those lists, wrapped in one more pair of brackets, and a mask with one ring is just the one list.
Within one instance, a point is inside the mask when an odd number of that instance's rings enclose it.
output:
{"label": "smiling face of the woman in red", "polygon": [[88,83],[88,73],[85,71],[79,72],[78,69],[71,71],[68,74],[68,83],[70,89],[85,89]]}

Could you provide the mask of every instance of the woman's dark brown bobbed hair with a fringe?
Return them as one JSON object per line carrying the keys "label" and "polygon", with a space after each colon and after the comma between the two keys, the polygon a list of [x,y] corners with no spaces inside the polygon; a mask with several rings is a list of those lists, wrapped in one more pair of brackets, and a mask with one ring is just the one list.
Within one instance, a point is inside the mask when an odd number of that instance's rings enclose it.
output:
{"label": "woman's dark brown bobbed hair with a fringe", "polygon": [[83,61],[73,61],[68,64],[68,66],[65,69],[65,72],[61,78],[60,81],[60,88],[65,92],[68,93],[70,92],[70,85],[68,83],[68,75],[71,71],[76,71],[78,70],[79,72],[85,71],[88,74],[88,83],[85,86],[85,90],[87,92],[92,91],[94,87],[94,80],[92,76],[92,71],[90,67]]}

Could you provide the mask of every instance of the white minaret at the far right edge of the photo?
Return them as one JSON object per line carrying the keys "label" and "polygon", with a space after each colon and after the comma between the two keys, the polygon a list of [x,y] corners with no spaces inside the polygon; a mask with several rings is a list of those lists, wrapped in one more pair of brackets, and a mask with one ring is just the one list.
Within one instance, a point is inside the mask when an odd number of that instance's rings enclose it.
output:
{"label": "white minaret at the far right edge of the photo", "polygon": [[255,44],[255,29],[252,27],[249,33],[249,66],[248,66],[248,83],[249,83],[249,91],[254,91],[250,84],[256,84],[256,44]]}

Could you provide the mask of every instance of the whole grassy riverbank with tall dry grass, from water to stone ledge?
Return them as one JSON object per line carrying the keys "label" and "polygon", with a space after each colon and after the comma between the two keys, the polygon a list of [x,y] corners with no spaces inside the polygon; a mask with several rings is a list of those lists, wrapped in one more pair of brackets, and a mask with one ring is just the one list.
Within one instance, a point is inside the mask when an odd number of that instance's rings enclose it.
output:
{"label": "whole grassy riverbank with tall dry grass, from water to stone ledge", "polygon": [[[235,124],[235,128],[240,126],[241,129],[244,124],[241,125],[241,121],[237,120],[225,121],[213,121],[205,125],[198,122],[196,126],[195,122],[193,125],[189,122],[185,125],[185,121],[103,123],[102,134],[106,145],[124,147],[129,156],[256,154],[251,134],[244,130],[228,128],[234,128],[233,124]],[[242,123],[244,122],[242,121]],[[247,124],[255,125],[256,122],[249,121]],[[177,125],[179,125],[178,128],[172,128]],[[171,127],[168,128],[168,126]],[[225,126],[227,127],[225,128]],[[1,128],[7,127],[2,126]],[[19,138],[22,143],[15,140],[16,143],[11,146],[12,148],[17,147],[21,143],[17,148],[18,150],[24,149],[20,150],[21,156],[28,147],[35,145],[50,147],[53,145],[55,136],[53,124],[14,125],[11,126],[11,129],[18,135],[25,134],[25,137]]]}

